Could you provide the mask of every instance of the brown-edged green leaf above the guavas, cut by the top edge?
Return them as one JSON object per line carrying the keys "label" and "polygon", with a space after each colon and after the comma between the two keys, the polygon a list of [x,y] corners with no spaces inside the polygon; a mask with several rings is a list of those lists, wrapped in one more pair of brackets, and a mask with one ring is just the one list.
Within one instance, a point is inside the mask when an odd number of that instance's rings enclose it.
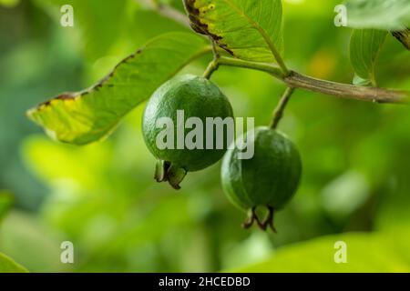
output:
{"label": "brown-edged green leaf above the guavas, cut by the top edge", "polygon": [[274,62],[282,50],[281,0],[184,0],[192,28],[238,58]]}

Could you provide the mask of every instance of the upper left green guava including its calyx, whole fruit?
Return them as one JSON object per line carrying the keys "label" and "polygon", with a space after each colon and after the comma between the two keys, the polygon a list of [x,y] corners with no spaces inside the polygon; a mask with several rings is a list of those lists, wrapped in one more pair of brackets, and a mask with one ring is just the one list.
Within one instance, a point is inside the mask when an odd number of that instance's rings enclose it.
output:
{"label": "upper left green guava including its calyx, whole fruit", "polygon": [[[164,117],[171,123],[159,125],[159,120]],[[187,125],[191,117],[195,123]],[[168,181],[179,189],[179,183],[189,171],[199,171],[220,160],[228,146],[219,148],[216,141],[221,138],[223,145],[229,143],[227,129],[218,131],[215,126],[207,126],[207,120],[217,117],[222,120],[230,117],[233,122],[233,110],[228,98],[210,80],[196,75],[180,75],[159,87],[149,99],[142,118],[145,142],[158,159],[155,174],[158,182]],[[223,136],[220,136],[221,132]],[[188,137],[194,146],[187,145],[185,138]],[[212,140],[207,141],[207,137]],[[159,141],[168,146],[159,146]]]}

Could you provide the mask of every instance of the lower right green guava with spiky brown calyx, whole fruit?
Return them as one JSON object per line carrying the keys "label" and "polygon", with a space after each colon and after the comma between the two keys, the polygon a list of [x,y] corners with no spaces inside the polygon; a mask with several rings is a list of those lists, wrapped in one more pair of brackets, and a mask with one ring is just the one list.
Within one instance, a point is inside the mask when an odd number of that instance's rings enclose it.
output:
{"label": "lower right green guava with spiky brown calyx, whole fruit", "polygon": [[[249,213],[243,224],[249,228],[256,221],[266,230],[273,226],[273,213],[288,203],[297,190],[302,174],[301,156],[285,135],[268,127],[257,127],[248,136],[254,143],[254,156],[239,159],[240,149],[230,149],[223,158],[221,180],[224,193],[235,206]],[[256,208],[269,213],[261,221]]]}

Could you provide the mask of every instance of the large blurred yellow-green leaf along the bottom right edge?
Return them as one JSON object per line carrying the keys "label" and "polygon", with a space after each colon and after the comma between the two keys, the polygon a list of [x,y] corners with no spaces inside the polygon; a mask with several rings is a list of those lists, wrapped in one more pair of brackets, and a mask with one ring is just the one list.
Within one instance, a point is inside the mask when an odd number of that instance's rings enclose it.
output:
{"label": "large blurred yellow-green leaf along the bottom right edge", "polygon": [[[335,263],[335,243],[346,245],[347,262]],[[343,234],[280,248],[266,261],[234,272],[409,272],[399,245],[379,234]]]}

